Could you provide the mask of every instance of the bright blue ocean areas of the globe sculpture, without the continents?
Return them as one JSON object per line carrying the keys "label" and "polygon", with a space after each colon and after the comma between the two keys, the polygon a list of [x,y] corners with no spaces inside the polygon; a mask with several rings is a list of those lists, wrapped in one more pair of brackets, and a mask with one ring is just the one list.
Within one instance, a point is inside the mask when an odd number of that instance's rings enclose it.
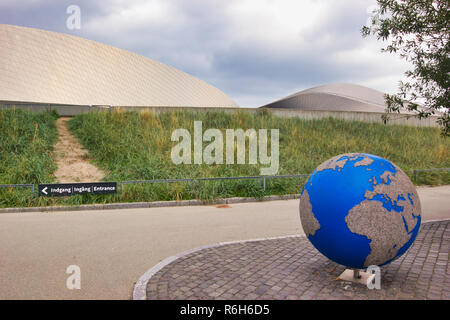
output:
{"label": "bright blue ocean areas of the globe sculpture, without the continents", "polygon": [[[338,160],[347,160],[341,168],[331,168],[314,171],[305,184],[302,195],[305,191],[309,194],[309,200],[312,207],[312,213],[320,224],[314,235],[308,235],[311,243],[326,257],[342,264],[344,266],[363,269],[367,256],[371,252],[371,239],[365,235],[356,234],[350,231],[346,217],[349,211],[358,206],[363,201],[378,201],[382,207],[389,213],[401,213],[404,207],[399,202],[409,201],[413,204],[413,194],[407,193],[400,195],[396,199],[391,199],[386,194],[377,194],[368,199],[365,195],[367,191],[374,191],[378,184],[391,184],[391,177],[386,178],[386,171],[392,172],[395,176],[396,167],[388,160],[370,155],[358,154],[358,157],[343,156]],[[373,160],[368,165],[355,165],[364,157]],[[384,176],[383,176],[384,174]],[[402,174],[404,174],[402,172]],[[404,174],[405,175],[405,174]],[[399,248],[396,255],[380,263],[385,265],[395,260],[414,242],[420,228],[420,212],[413,213],[412,217],[416,220],[415,227],[408,228],[408,224],[403,217],[403,228],[409,237],[409,240]],[[411,226],[411,225],[410,225]],[[367,266],[366,266],[367,267]]]}

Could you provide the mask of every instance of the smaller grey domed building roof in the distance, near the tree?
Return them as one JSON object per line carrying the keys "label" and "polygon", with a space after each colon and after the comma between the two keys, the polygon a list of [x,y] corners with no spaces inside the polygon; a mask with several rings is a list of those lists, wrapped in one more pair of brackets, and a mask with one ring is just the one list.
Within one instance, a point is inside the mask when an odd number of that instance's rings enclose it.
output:
{"label": "smaller grey domed building roof in the distance, near the tree", "polygon": [[264,108],[320,111],[384,112],[384,93],[350,83],[333,83],[303,90]]}

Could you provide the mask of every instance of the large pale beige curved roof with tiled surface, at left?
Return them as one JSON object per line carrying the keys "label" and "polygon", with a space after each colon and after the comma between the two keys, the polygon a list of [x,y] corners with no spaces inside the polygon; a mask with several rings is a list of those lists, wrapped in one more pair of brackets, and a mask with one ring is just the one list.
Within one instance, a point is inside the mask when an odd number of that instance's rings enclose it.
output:
{"label": "large pale beige curved roof with tiled surface, at left", "polygon": [[219,89],[141,55],[75,36],[0,24],[0,100],[237,107]]}

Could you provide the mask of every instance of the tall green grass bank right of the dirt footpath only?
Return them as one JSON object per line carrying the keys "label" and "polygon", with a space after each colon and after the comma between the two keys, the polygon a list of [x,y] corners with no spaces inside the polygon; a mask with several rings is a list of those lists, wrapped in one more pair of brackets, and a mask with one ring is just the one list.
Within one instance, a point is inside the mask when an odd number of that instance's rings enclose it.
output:
{"label": "tall green grass bank right of the dirt footpath only", "polygon": [[[233,114],[223,111],[195,113],[150,111],[89,113],[70,121],[72,132],[89,150],[95,163],[108,172],[105,180],[253,176],[259,165],[175,165],[170,153],[176,142],[172,131],[185,128],[193,140],[194,121],[203,130],[279,129],[278,174],[310,173],[323,161],[346,152],[365,152],[385,157],[412,178],[412,169],[450,167],[450,140],[438,129],[382,125],[333,118],[302,120],[280,118],[261,111]],[[225,136],[225,135],[224,135]],[[205,146],[207,143],[204,144]],[[421,174],[417,184],[449,184],[450,174]],[[304,179],[270,179],[266,191],[258,180],[125,185],[121,201],[213,199],[218,197],[299,193]]]}

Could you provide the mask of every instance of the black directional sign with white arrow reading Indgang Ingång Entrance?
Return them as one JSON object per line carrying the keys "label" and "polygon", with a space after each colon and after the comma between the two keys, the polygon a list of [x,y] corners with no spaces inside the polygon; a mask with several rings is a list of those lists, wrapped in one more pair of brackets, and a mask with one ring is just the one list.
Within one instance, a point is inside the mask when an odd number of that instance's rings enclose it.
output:
{"label": "black directional sign with white arrow reading Indgang Ing\u00e5ng Entrance", "polygon": [[40,197],[64,197],[76,194],[117,193],[117,182],[61,183],[38,185]]}

